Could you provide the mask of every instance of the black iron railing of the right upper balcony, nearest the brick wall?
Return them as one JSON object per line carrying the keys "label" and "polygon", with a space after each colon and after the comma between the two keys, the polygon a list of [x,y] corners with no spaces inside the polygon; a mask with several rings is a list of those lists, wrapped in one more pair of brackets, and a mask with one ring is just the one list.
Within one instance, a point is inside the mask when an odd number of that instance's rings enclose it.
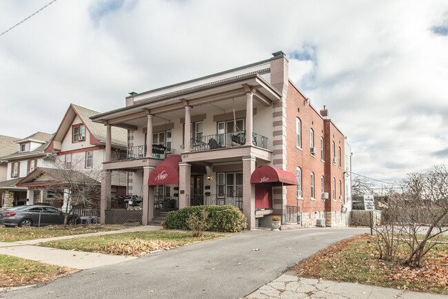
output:
{"label": "black iron railing of the right upper balcony, nearest the brick wall", "polygon": [[[213,134],[205,136],[196,136],[191,141],[192,152],[203,152],[209,149],[232,148],[245,145],[246,132],[234,132],[225,134]],[[267,149],[267,137],[256,132],[252,133],[252,143],[257,147]]]}

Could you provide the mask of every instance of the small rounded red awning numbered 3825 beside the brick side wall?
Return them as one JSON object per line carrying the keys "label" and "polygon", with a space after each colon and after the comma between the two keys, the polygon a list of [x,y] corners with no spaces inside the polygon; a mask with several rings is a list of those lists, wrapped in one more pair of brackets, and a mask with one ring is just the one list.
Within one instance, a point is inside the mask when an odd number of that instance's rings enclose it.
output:
{"label": "small rounded red awning numbered 3825 beside the brick side wall", "polygon": [[297,185],[297,178],[291,172],[276,167],[263,165],[255,169],[250,177],[250,183],[268,183],[269,185]]}

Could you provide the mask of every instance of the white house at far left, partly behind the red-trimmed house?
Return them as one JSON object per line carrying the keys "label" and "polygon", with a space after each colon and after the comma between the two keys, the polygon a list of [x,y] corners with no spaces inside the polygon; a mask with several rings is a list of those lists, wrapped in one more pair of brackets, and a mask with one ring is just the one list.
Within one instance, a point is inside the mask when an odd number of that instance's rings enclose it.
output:
{"label": "white house at far left, partly behind the red-trimmed house", "polygon": [[30,190],[17,184],[37,167],[54,167],[54,156],[45,153],[52,134],[37,132],[26,138],[14,141],[14,153],[0,158],[1,163],[8,163],[6,181],[0,182],[2,207],[31,205],[34,198],[43,198],[43,190]]}

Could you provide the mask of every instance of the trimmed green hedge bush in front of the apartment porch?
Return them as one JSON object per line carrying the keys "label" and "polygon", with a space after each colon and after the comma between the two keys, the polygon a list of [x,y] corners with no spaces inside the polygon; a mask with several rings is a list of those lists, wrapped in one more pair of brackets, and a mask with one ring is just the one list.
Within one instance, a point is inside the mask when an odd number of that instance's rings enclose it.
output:
{"label": "trimmed green hedge bush in front of the apartment porch", "polygon": [[190,214],[200,216],[201,211],[208,212],[207,231],[238,232],[247,227],[246,217],[232,205],[198,205],[184,207],[179,211],[168,213],[166,224],[168,229],[188,229],[187,218]]}

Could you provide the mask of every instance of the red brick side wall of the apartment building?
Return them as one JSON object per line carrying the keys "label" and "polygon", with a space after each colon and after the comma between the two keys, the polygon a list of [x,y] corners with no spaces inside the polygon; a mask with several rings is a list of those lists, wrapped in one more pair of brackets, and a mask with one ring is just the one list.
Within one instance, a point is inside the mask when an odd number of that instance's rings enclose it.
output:
{"label": "red brick side wall of the apartment building", "polygon": [[[329,119],[324,119],[316,110],[305,103],[304,96],[289,83],[287,92],[287,171],[296,174],[296,167],[302,168],[302,194],[303,200],[298,200],[302,213],[340,211],[339,185],[343,186],[344,168],[344,136]],[[296,117],[301,119],[302,125],[302,149],[296,147]],[[316,155],[310,153],[310,128],[314,130],[314,147]],[[320,159],[320,137],[324,138],[324,160]],[[338,163],[332,163],[332,141],[336,145],[336,157],[338,147],[341,149],[341,167]],[[315,200],[311,200],[311,172],[314,172]],[[325,202],[321,199],[321,176],[324,176],[324,191],[329,198]],[[336,202],[332,199],[332,180],[336,178]],[[344,188],[342,188],[344,198]],[[296,187],[287,187],[287,205],[296,205]]]}

